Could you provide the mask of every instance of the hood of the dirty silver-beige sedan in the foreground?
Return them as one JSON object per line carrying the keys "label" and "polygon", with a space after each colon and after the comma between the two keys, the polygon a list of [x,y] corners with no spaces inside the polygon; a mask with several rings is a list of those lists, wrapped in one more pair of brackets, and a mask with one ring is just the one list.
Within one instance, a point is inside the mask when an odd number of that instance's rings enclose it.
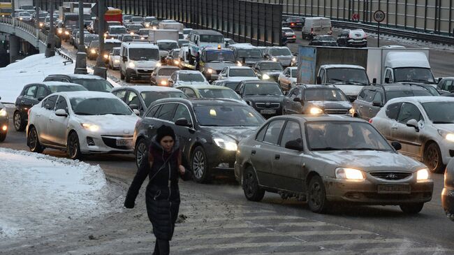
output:
{"label": "hood of the dirty silver-beige sedan in the foreground", "polygon": [[312,153],[316,158],[325,161],[333,168],[349,167],[360,169],[365,172],[381,170],[415,171],[425,168],[422,163],[395,152],[342,150]]}

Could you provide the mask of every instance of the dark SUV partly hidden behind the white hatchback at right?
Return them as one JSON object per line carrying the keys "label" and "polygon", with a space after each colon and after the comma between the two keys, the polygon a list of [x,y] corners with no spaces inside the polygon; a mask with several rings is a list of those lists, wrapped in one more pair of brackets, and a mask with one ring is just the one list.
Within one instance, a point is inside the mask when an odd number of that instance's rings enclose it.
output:
{"label": "dark SUV partly hidden behind the white hatchback at right", "polygon": [[375,117],[386,102],[407,96],[434,96],[434,94],[427,88],[415,84],[390,83],[365,86],[353,102],[353,117],[369,120]]}

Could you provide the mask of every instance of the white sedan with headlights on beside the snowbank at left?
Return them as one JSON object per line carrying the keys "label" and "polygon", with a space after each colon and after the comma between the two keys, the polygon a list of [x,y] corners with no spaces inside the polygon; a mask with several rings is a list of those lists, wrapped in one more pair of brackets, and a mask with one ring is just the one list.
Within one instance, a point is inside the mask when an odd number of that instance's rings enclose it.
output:
{"label": "white sedan with headlights on beside the snowbank at left", "polygon": [[29,110],[27,145],[65,150],[71,159],[82,154],[132,153],[139,117],[114,94],[59,92]]}

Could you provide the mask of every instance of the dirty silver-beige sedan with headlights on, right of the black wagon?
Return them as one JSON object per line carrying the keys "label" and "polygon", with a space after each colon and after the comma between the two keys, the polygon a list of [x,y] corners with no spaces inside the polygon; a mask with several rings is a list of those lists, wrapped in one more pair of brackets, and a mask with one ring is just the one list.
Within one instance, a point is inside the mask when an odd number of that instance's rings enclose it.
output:
{"label": "dirty silver-beige sedan with headlights on, right of the black wagon", "polygon": [[418,213],[432,199],[433,182],[426,166],[399,149],[362,119],[273,117],[238,144],[235,177],[250,201],[269,191],[307,201],[318,213],[337,203]]}

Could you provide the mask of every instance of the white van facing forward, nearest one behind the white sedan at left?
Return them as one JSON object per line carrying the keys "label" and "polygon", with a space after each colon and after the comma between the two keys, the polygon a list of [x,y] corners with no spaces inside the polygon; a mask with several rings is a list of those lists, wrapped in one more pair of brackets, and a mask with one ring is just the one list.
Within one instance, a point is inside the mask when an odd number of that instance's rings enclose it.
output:
{"label": "white van facing forward, nearest one behind the white sedan at left", "polygon": [[159,48],[148,42],[122,43],[120,52],[120,78],[125,82],[149,80],[159,61]]}

